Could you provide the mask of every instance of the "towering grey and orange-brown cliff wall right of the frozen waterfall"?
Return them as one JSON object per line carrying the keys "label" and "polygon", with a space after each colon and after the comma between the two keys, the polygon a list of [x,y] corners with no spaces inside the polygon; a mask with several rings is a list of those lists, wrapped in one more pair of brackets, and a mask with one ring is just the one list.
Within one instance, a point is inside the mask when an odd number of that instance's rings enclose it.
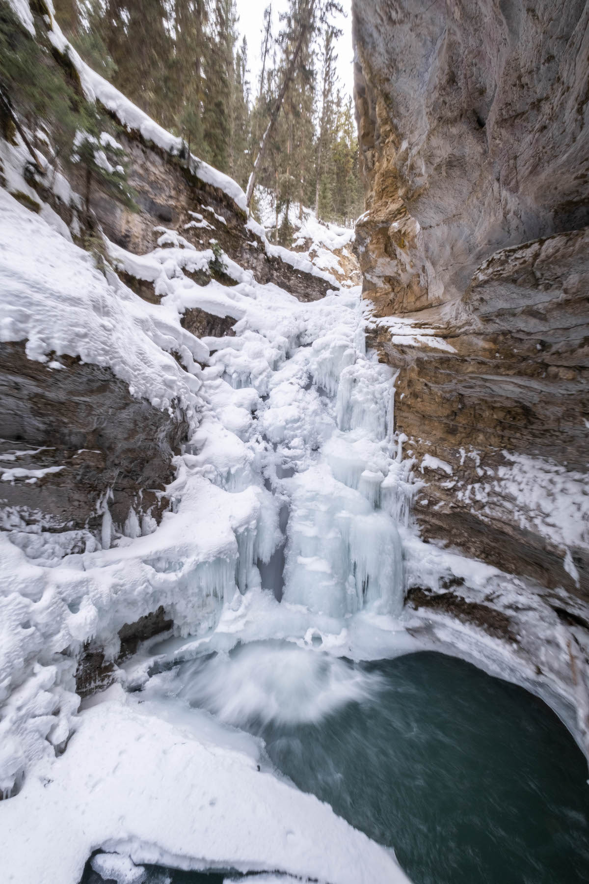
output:
{"label": "towering grey and orange-brown cliff wall right of the frozen waterfall", "polygon": [[589,5],[352,5],[369,338],[423,535],[586,611]]}

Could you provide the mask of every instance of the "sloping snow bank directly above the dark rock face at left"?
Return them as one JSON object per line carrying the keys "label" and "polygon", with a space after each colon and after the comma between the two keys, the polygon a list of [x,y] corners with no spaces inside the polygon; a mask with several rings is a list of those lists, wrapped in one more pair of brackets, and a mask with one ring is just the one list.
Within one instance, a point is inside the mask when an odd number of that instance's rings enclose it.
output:
{"label": "sloping snow bank directly above the dark rock face at left", "polygon": [[[156,311],[114,274],[109,285],[91,255],[2,189],[0,238],[0,340],[26,341],[26,355],[37,362],[48,364],[55,353],[107,366],[132,395],[162,410],[179,405],[196,423],[195,360],[208,350],[177,316]],[[183,354],[190,373],[172,351]]]}

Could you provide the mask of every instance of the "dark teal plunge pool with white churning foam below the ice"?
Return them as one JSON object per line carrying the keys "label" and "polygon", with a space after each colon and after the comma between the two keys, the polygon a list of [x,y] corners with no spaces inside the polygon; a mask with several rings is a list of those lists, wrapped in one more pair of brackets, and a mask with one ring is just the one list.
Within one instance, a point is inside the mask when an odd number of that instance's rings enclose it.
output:
{"label": "dark teal plunge pool with white churning foam below the ice", "polygon": [[589,880],[585,758],[513,684],[440,653],[354,664],[285,643],[167,676],[176,697],[261,736],[279,771],[393,847],[415,884]]}

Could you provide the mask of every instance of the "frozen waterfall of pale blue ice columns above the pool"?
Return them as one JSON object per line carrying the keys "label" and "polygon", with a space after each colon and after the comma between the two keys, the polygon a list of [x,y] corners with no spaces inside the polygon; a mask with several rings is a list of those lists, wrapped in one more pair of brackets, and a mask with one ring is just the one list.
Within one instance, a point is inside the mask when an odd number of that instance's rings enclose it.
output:
{"label": "frozen waterfall of pale blue ice columns above the pool", "polygon": [[[339,618],[364,608],[398,615],[398,525],[408,521],[412,486],[394,438],[396,376],[366,354],[359,289],[299,313],[302,333],[299,315],[291,335],[271,336],[266,326],[207,339],[215,353],[205,374],[217,398],[220,385],[233,396],[258,394],[238,463],[220,456],[210,432],[198,455],[215,484],[235,493],[251,483],[259,496],[257,513],[236,529],[238,589],[261,586]],[[246,361],[236,358],[245,350]],[[226,410],[225,394],[222,401]]]}

